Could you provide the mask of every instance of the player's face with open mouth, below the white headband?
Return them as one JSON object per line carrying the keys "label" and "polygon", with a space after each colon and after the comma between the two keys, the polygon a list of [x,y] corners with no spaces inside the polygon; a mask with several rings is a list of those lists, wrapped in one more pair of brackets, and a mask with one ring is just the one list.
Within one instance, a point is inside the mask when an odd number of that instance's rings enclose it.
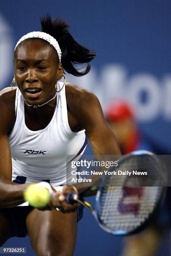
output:
{"label": "player's face with open mouth, below the white headband", "polygon": [[55,95],[55,84],[63,75],[55,49],[40,39],[25,40],[14,56],[15,79],[30,105],[41,104]]}

